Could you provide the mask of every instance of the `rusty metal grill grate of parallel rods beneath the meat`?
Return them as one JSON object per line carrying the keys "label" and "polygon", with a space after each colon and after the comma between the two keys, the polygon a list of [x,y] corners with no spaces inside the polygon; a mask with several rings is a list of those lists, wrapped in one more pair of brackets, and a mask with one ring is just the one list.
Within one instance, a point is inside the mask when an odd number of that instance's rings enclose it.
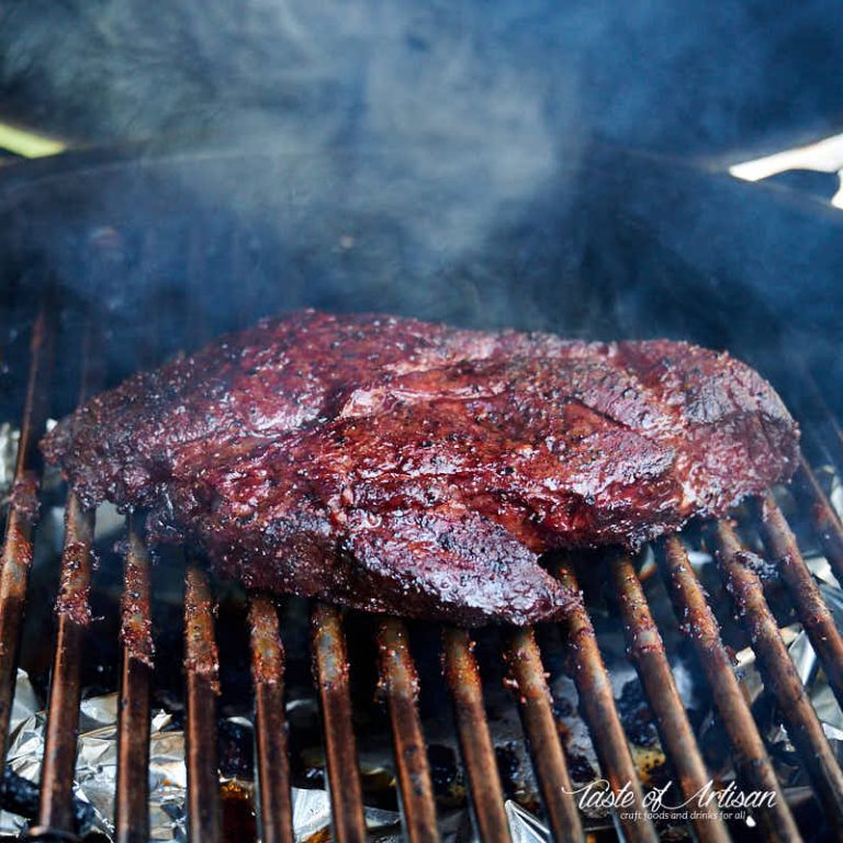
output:
{"label": "rusty metal grill grate of parallel rods beneath the meat", "polygon": [[[50,303],[45,300],[34,324],[30,379],[22,417],[15,485],[3,542],[0,572],[0,740],[8,740],[21,620],[33,553],[33,501],[37,487],[35,443],[47,413],[48,383],[55,349]],[[93,357],[90,345],[86,356]],[[95,374],[82,378],[81,397],[91,392]],[[795,492],[810,512],[832,570],[843,574],[843,528],[807,462]],[[814,647],[839,702],[843,704],[843,638],[797,546],[790,527],[767,494],[753,504],[767,554],[777,562],[797,616]],[[80,663],[83,634],[90,622],[88,592],[92,575],[94,515],[71,493],[67,497],[58,630],[49,689],[45,755],[37,825],[33,840],[72,840],[72,772],[79,726]],[[763,582],[753,571],[751,552],[727,521],[707,526],[717,549],[718,571],[752,641],[765,686],[775,696],[801,763],[824,814],[843,833],[843,774],[783,642],[767,605]],[[775,803],[755,812],[766,839],[800,840],[800,832],[776,779],[750,705],[735,677],[732,660],[706,593],[678,537],[656,543],[656,563],[681,629],[702,666],[713,704],[731,743],[738,772],[750,789],[775,791]],[[671,672],[667,654],[632,560],[619,553],[609,560],[610,586],[620,608],[629,659],[654,713],[665,754],[683,795],[689,798],[708,780],[706,765]],[[203,843],[221,840],[217,780],[218,666],[214,604],[209,580],[193,560],[184,562],[184,668],[187,676],[187,766],[189,836]],[[557,563],[554,573],[577,588],[573,570]],[[148,839],[150,689],[155,660],[151,636],[150,557],[136,518],[127,518],[125,585],[121,607],[122,675],[119,716],[119,768],[115,836],[121,843]],[[291,843],[292,807],[286,752],[284,698],[285,656],[278,610],[263,594],[249,597],[248,627],[256,709],[258,811],[261,839]],[[366,840],[363,798],[349,692],[349,661],[340,612],[315,604],[311,645],[318,690],[334,835],[341,843]],[[600,656],[592,619],[584,607],[562,625],[567,641],[569,672],[576,685],[581,713],[588,727],[603,775],[618,791],[631,788],[634,805],[618,819],[628,841],[653,841],[656,832],[643,806],[643,788],[626,740],[611,683]],[[379,621],[379,689],[392,729],[405,836],[438,839],[436,807],[425,739],[417,708],[418,676],[405,623]],[[469,632],[442,630],[443,672],[456,715],[462,760],[468,773],[476,829],[484,841],[509,840],[503,788],[484,708],[480,666]],[[546,814],[554,839],[576,840],[583,827],[559,739],[541,653],[530,629],[505,634],[503,657],[517,690]],[[628,784],[629,783],[629,784]],[[726,841],[729,833],[717,813],[693,819],[700,841]]]}

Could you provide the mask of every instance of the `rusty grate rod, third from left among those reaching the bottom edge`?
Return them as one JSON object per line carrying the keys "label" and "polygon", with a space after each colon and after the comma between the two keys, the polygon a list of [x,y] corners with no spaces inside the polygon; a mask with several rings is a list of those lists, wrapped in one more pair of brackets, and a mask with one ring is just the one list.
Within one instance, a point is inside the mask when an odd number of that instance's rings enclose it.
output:
{"label": "rusty grate rod, third from left among those reaching the bottom edge", "polygon": [[214,636],[214,602],[202,566],[188,561],[184,575],[184,672],[188,689],[188,839],[221,839],[216,699],[220,660]]}

